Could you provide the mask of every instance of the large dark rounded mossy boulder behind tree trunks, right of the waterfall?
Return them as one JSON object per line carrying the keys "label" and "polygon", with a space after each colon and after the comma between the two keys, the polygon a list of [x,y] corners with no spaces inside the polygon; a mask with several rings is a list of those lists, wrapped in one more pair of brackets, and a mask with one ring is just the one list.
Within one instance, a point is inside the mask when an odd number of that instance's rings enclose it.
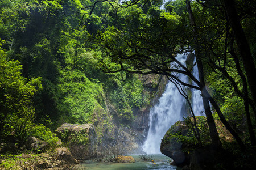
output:
{"label": "large dark rounded mossy boulder behind tree trunks, right of the waterfall", "polygon": [[[190,121],[192,121],[192,118]],[[222,153],[224,151],[210,147],[209,131],[206,130],[208,128],[206,118],[198,116],[196,117],[196,122],[200,127],[203,127],[200,133],[201,141],[204,146],[208,146],[208,148],[199,145],[199,142],[197,142],[193,135],[193,131],[188,128],[185,121],[178,121],[166,132],[160,146],[162,154],[174,160],[172,165],[183,167],[184,165],[190,164],[191,169],[197,169],[199,166],[201,167],[202,164],[218,162],[218,160],[213,160],[213,158],[215,158],[216,155],[223,155]],[[221,121],[215,120],[215,124],[220,138],[223,141],[232,142],[232,135],[226,130]],[[218,156],[218,158],[221,157]]]}

